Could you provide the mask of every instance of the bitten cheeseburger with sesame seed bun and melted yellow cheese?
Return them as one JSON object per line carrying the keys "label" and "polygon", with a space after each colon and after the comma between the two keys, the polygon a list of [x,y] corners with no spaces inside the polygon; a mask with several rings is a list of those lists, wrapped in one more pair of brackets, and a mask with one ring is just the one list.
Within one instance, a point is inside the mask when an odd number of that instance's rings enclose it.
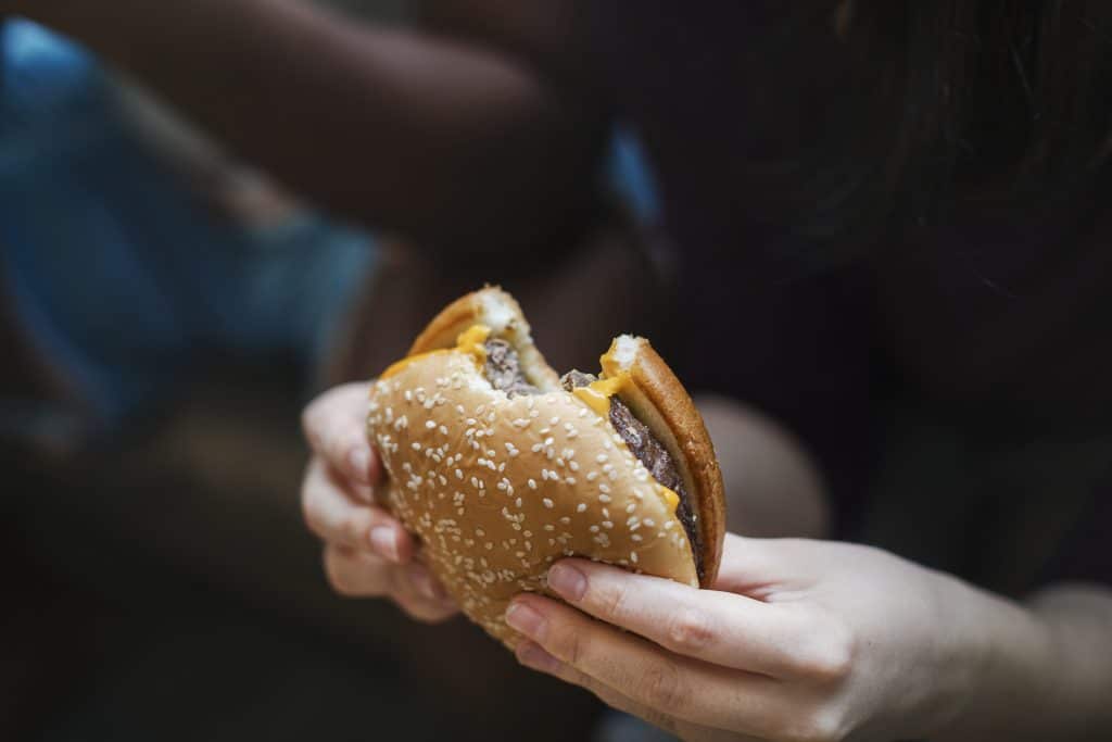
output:
{"label": "bitten cheeseburger with sesame seed bun and melted yellow cheese", "polygon": [[379,498],[423,543],[464,613],[513,644],[514,595],[582,556],[709,585],[722,476],[694,404],[648,342],[623,335],[598,374],[560,377],[497,288],[445,308],[374,383]]}

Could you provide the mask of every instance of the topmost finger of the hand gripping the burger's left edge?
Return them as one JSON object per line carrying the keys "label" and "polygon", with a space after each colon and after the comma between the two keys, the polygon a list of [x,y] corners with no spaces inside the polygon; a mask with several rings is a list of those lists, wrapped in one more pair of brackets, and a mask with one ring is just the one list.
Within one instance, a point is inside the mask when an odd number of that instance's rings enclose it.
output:
{"label": "topmost finger of the hand gripping the burger's left edge", "polygon": [[301,415],[301,427],[314,452],[358,484],[356,494],[369,501],[368,487],[381,476],[381,465],[367,441],[366,415],[367,386],[346,384],[314,399]]}

